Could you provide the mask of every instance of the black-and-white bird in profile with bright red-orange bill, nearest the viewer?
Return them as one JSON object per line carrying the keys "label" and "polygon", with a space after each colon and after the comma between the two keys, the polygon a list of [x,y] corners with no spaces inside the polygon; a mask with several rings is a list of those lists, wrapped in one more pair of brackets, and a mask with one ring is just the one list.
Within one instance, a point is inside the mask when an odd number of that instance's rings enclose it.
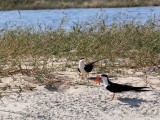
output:
{"label": "black-and-white bird in profile with bright red-orange bill, nearest the viewer", "polygon": [[112,100],[114,99],[115,93],[121,93],[126,91],[135,91],[135,92],[151,91],[151,90],[145,89],[149,87],[134,87],[131,85],[113,83],[109,80],[109,77],[106,74],[102,74],[100,77],[97,77],[95,80],[95,82],[100,82],[100,81],[103,81],[103,84],[107,90],[114,93]]}

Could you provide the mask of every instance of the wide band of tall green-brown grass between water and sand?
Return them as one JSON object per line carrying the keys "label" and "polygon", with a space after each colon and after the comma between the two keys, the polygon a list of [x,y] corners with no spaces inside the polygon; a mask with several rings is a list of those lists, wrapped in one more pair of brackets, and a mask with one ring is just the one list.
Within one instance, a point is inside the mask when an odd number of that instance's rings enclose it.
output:
{"label": "wide band of tall green-brown grass between water and sand", "polygon": [[93,21],[75,24],[71,31],[50,27],[43,32],[34,32],[33,27],[6,30],[0,37],[0,67],[9,71],[25,65],[45,72],[52,62],[48,71],[56,71],[54,61],[77,64],[82,56],[89,60],[105,58],[113,64],[118,58],[128,58],[136,68],[160,64],[160,29],[154,21],[145,25],[115,22],[110,27],[104,20],[91,23]]}

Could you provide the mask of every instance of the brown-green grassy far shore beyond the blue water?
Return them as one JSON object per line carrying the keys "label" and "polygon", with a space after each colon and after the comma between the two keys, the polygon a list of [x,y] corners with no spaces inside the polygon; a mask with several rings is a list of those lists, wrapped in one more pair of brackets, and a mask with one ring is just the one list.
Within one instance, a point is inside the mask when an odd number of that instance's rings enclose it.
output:
{"label": "brown-green grassy far shore beyond the blue water", "polygon": [[1,0],[0,10],[159,6],[159,0]]}

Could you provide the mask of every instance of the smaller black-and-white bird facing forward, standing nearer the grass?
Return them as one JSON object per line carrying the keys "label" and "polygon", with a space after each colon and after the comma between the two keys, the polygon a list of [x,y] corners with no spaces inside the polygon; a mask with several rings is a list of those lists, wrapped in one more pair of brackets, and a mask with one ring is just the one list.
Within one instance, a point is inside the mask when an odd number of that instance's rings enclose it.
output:
{"label": "smaller black-and-white bird facing forward, standing nearer the grass", "polygon": [[81,73],[82,78],[89,76],[89,72],[91,72],[93,70],[94,67],[94,63],[100,61],[102,59],[96,60],[94,62],[88,63],[86,64],[86,60],[85,58],[81,58],[79,60],[79,64],[78,64],[78,71]]}

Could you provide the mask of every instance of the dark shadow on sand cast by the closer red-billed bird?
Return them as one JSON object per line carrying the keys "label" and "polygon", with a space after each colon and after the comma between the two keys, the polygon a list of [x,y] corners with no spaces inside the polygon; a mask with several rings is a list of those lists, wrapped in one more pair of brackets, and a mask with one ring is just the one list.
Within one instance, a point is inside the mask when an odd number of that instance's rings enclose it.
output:
{"label": "dark shadow on sand cast by the closer red-billed bird", "polygon": [[118,98],[118,100],[124,103],[124,105],[129,105],[130,107],[140,107],[143,102],[147,102],[146,100],[138,98]]}

